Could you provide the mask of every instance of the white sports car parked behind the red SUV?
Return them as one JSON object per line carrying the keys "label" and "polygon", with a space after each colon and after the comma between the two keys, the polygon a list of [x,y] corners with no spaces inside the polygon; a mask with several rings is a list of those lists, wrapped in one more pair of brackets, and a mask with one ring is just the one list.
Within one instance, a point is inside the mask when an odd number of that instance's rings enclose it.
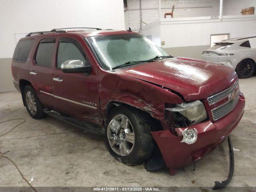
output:
{"label": "white sports car parked behind the red SUV", "polygon": [[222,40],[204,50],[202,57],[233,68],[239,78],[248,78],[256,67],[256,36]]}

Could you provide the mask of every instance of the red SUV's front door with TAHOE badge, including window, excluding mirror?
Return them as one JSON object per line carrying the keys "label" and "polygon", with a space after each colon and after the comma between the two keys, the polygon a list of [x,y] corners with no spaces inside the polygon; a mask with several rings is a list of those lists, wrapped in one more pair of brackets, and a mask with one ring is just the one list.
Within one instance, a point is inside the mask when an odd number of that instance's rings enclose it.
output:
{"label": "red SUV's front door with TAHOE badge, including window, excluding mirror", "polygon": [[78,120],[99,123],[96,118],[99,114],[97,73],[92,70],[90,76],[86,76],[83,73],[64,73],[59,68],[65,60],[82,60],[87,65],[89,60],[84,50],[74,39],[60,39],[56,56],[53,72],[56,110]]}

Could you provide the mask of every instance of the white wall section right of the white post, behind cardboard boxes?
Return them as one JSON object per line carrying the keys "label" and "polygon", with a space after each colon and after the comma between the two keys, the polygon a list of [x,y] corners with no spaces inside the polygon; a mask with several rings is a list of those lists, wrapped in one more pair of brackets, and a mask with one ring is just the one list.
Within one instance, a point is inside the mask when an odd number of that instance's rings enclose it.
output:
{"label": "white wall section right of the white post, behind cardboard boxes", "polygon": [[256,8],[256,0],[223,0],[223,15],[241,15],[242,9],[249,7]]}

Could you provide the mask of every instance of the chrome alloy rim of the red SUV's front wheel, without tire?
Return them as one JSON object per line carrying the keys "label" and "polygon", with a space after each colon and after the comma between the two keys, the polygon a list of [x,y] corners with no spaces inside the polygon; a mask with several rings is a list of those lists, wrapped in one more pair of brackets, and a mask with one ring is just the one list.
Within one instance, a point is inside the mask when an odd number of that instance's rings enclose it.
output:
{"label": "chrome alloy rim of the red SUV's front wheel, without tire", "polygon": [[123,114],[115,115],[107,127],[111,149],[120,156],[128,156],[135,142],[134,129],[130,120]]}

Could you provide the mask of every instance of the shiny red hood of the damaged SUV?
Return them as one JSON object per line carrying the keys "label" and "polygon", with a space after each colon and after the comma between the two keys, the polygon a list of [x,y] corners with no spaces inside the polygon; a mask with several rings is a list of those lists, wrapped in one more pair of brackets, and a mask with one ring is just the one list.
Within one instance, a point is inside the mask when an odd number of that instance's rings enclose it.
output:
{"label": "shiny red hood of the damaged SUV", "polygon": [[231,86],[237,75],[227,66],[190,58],[168,58],[116,73],[179,92],[185,100],[203,100]]}

